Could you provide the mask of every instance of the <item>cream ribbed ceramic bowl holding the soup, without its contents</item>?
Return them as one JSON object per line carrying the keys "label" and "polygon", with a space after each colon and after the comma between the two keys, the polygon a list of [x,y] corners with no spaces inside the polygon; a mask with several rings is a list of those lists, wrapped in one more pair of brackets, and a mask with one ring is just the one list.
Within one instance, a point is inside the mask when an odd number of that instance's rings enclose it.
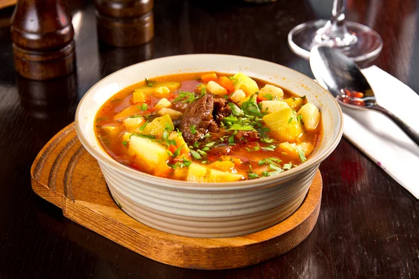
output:
{"label": "cream ribbed ceramic bowl holding the soup, without its contents", "polygon": [[[323,138],[314,155],[277,176],[234,183],[193,183],[138,172],[117,163],[103,150],[94,134],[94,117],[112,95],[145,77],[209,71],[242,72],[306,95],[322,113]],[[260,231],[297,210],[318,165],[339,143],[342,114],[330,93],[295,70],[242,56],[191,54],[145,61],[105,77],[80,101],[75,128],[84,147],[98,160],[110,193],[129,216],[164,232],[213,238]]]}

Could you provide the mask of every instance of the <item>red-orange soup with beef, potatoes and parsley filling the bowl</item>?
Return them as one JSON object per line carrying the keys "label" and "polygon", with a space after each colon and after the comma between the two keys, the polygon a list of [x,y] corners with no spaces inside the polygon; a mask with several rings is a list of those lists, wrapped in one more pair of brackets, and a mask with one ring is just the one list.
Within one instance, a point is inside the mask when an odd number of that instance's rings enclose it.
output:
{"label": "red-orange soup with beef, potatoes and parsley filling the bowl", "polygon": [[128,86],[96,115],[96,135],[119,163],[155,176],[227,182],[304,163],[321,139],[305,96],[243,73],[189,73]]}

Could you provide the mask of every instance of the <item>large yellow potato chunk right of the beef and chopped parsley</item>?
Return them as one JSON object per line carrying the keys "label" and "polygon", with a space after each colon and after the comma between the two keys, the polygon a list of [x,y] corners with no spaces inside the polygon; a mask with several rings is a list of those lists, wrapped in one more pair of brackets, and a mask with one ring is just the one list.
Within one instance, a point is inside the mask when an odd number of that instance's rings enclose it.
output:
{"label": "large yellow potato chunk right of the beef and chopped parsley", "polygon": [[267,128],[283,142],[295,142],[303,133],[302,125],[291,108],[263,116]]}

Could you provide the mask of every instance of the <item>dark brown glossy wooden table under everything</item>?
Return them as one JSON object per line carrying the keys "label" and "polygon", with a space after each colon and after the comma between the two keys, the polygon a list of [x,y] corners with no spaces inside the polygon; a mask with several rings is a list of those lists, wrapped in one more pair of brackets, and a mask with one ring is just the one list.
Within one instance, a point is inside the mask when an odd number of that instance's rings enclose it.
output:
{"label": "dark brown glossy wooden table under everything", "polygon": [[[419,202],[345,139],[321,165],[323,200],[313,232],[285,255],[243,269],[154,262],[64,218],[34,194],[29,169],[36,154],[73,121],[78,100],[102,77],[189,53],[251,56],[311,76],[286,36],[331,9],[331,0],[155,2],[152,43],[122,49],[98,43],[90,1],[69,1],[77,73],[50,82],[17,77],[8,25],[13,8],[0,10],[0,278],[419,278]],[[383,37],[374,63],[419,92],[417,2],[348,0],[348,6],[349,20]]]}

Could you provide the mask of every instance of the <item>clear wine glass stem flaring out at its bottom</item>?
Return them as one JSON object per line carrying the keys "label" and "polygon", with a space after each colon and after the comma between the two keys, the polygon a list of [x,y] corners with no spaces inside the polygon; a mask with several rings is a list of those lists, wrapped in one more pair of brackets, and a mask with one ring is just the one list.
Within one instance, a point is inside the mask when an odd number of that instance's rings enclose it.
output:
{"label": "clear wine glass stem flaring out at its bottom", "polygon": [[357,38],[348,31],[345,24],[346,0],[333,2],[332,17],[322,29],[319,29],[315,40],[328,47],[347,47],[356,43]]}

